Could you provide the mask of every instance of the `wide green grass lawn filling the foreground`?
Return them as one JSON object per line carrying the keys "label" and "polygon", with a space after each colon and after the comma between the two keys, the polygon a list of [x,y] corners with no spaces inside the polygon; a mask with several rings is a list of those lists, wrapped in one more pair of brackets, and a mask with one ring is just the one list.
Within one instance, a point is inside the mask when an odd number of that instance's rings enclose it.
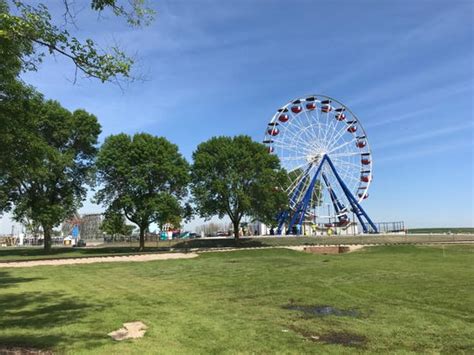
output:
{"label": "wide green grass lawn filling the foreground", "polygon": [[[473,245],[3,268],[0,352],[473,353],[473,280]],[[144,338],[107,336],[136,320],[149,326]]]}

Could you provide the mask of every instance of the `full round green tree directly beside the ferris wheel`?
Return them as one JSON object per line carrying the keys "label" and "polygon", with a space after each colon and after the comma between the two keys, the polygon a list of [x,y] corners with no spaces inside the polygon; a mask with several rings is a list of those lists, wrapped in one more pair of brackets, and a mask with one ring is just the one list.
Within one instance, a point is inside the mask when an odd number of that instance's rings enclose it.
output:
{"label": "full round green tree directly beside the ferris wheel", "polygon": [[214,137],[193,154],[191,190],[201,217],[229,216],[234,236],[248,216],[273,221],[287,204],[286,173],[275,155],[248,136]]}

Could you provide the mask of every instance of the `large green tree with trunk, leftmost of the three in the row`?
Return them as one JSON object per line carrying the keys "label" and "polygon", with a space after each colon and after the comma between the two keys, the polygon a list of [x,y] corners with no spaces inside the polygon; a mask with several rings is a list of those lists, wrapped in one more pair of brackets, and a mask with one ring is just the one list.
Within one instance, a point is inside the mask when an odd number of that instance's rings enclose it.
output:
{"label": "large green tree with trunk, leftmost of the three in the row", "polygon": [[18,92],[0,110],[0,210],[41,225],[50,250],[52,229],[81,206],[93,181],[100,125],[86,111],[71,113],[31,88]]}

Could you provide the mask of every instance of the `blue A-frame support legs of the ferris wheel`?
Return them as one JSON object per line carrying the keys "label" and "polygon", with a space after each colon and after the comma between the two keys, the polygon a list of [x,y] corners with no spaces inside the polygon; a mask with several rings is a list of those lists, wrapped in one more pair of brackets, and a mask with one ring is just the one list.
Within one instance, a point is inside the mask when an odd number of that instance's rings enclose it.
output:
{"label": "blue A-frame support legs of the ferris wheel", "polygon": [[[298,202],[296,205],[295,212],[293,213],[293,216],[289,220],[289,223],[286,228],[286,234],[288,235],[301,235],[304,234],[303,227],[304,227],[304,218],[306,215],[306,212],[309,208],[309,200],[313,194],[314,187],[316,185],[316,181],[318,180],[319,174],[322,170],[322,167],[324,164],[328,164],[330,167],[331,172],[334,174],[336,177],[336,180],[338,184],[340,185],[342,191],[344,192],[344,195],[346,196],[347,200],[349,201],[349,204],[351,206],[351,212],[354,213],[354,215],[357,217],[363,233],[364,234],[377,234],[378,228],[376,225],[372,222],[370,219],[369,215],[365,212],[365,210],[362,208],[362,206],[359,204],[357,199],[354,197],[352,192],[349,190],[347,185],[344,183],[344,181],[341,179],[339,173],[337,172],[333,162],[331,161],[331,158],[328,155],[324,155],[321,161],[319,162],[319,166],[316,169],[316,173],[311,179],[311,183],[309,184],[309,187],[307,191],[304,194],[304,197],[301,201]],[[324,177],[324,176],[323,176]],[[290,211],[282,211],[279,216],[278,216],[278,228],[277,228],[277,234],[282,234],[283,232],[283,227],[286,226],[286,222],[288,218],[290,217]],[[352,223],[354,223],[353,221]],[[334,227],[342,227],[342,226],[334,226]],[[332,226],[328,226],[328,231],[329,229],[332,228]],[[302,233],[303,232],[303,233]]]}

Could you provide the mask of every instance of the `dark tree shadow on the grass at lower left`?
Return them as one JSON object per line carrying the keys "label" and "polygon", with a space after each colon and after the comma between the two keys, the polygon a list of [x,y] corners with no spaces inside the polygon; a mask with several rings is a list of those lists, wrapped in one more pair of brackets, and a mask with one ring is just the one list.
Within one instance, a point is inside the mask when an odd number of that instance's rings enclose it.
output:
{"label": "dark tree shadow on the grass at lower left", "polygon": [[75,342],[93,349],[108,339],[87,329],[85,318],[104,307],[63,292],[0,294],[0,353],[12,347],[61,350]]}

